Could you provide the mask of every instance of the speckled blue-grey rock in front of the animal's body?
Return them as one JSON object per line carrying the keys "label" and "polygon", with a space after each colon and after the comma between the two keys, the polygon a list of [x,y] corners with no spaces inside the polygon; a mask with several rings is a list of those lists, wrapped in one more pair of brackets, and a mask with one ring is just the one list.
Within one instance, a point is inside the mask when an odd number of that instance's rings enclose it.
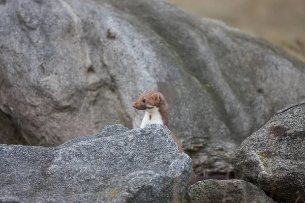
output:
{"label": "speckled blue-grey rock in front of the animal's body", "polygon": [[167,127],[100,133],[53,148],[0,145],[0,202],[188,202],[192,160]]}

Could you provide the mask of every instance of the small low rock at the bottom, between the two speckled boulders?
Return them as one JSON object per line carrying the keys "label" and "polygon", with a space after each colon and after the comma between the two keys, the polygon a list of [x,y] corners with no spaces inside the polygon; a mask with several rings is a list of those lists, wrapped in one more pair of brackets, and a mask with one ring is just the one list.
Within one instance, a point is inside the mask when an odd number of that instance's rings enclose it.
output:
{"label": "small low rock at the bottom, between the two speckled boulders", "polygon": [[191,186],[192,203],[273,203],[263,190],[243,180],[205,180]]}

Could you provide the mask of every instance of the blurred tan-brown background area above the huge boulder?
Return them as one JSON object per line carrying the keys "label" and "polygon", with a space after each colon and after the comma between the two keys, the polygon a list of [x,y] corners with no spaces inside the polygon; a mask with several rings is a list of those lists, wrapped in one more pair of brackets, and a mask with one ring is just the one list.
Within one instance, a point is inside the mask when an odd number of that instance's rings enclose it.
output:
{"label": "blurred tan-brown background area above the huge boulder", "polygon": [[169,0],[198,17],[224,21],[285,48],[305,62],[304,0]]}

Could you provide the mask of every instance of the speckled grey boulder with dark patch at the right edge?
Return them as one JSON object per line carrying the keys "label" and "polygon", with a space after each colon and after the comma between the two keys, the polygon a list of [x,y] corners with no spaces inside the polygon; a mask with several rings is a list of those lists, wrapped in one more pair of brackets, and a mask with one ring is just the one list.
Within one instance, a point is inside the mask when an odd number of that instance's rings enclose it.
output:
{"label": "speckled grey boulder with dark patch at the right edge", "polygon": [[235,178],[285,201],[299,194],[305,201],[305,100],[279,111],[243,141],[233,164]]}

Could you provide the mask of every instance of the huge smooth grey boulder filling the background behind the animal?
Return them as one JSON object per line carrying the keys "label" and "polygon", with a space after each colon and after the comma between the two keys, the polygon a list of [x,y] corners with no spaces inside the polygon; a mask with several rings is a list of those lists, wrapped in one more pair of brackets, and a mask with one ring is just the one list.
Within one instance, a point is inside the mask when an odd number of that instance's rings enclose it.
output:
{"label": "huge smooth grey boulder filling the background behind the animal", "polygon": [[245,138],[305,98],[302,62],[167,2],[11,0],[0,19],[2,143],[138,127],[133,102],[159,90],[195,172],[227,172]]}

